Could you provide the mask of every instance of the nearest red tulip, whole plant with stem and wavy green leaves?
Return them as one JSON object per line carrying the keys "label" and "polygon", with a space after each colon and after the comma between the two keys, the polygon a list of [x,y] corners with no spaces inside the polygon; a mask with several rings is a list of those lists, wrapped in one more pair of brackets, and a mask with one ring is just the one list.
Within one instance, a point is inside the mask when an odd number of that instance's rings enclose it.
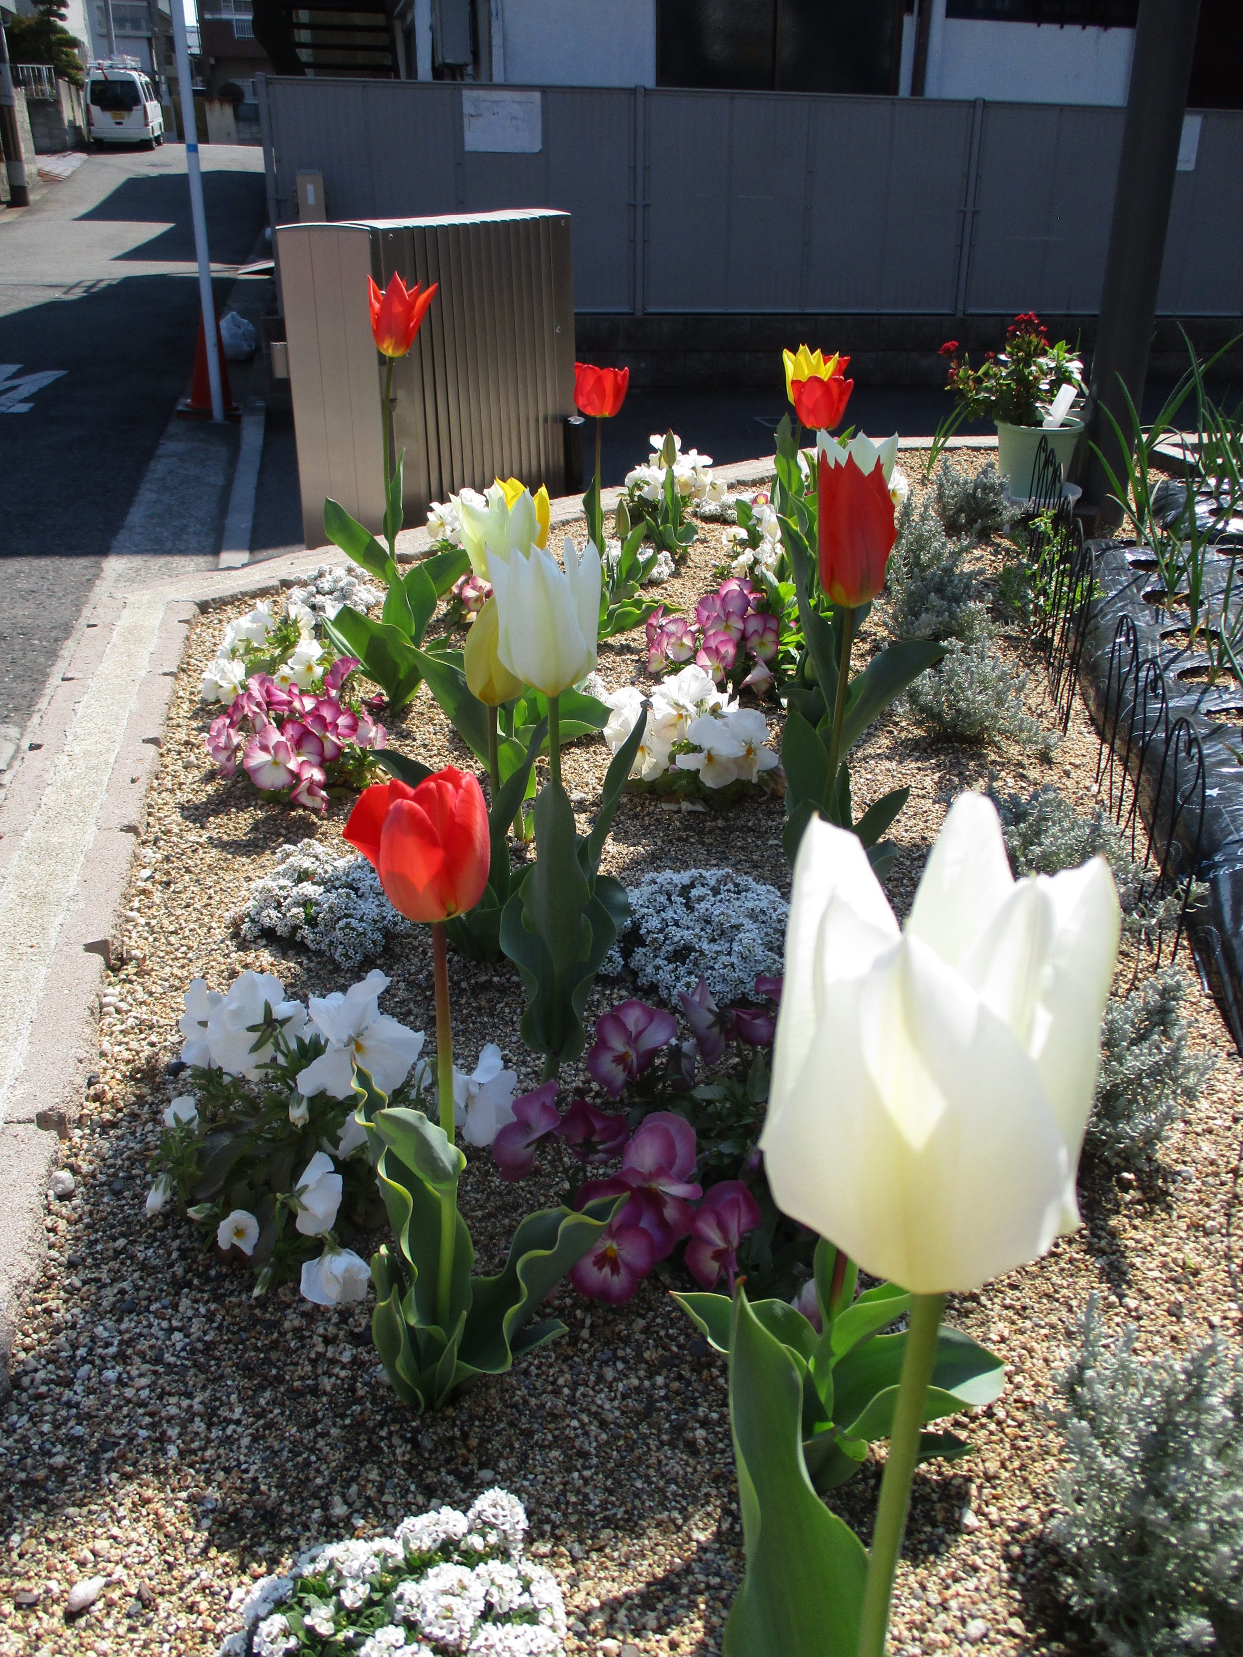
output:
{"label": "nearest red tulip, whole plant with stem and wavy green leaves", "polygon": [[371,1259],[371,1332],[396,1395],[438,1408],[467,1382],[504,1374],[515,1357],[563,1332],[532,1324],[552,1286],[575,1266],[622,1206],[600,1196],[527,1215],[509,1259],[474,1276],[474,1246],[457,1208],[466,1157],[456,1142],[446,925],[469,913],[489,873],[489,824],[479,782],[452,766],[416,787],[378,784],[358,800],[346,838],[375,865],[408,920],[431,926],[436,984],[436,1110],[393,1109],[360,1062],[356,1120],[376,1162],[393,1243]]}

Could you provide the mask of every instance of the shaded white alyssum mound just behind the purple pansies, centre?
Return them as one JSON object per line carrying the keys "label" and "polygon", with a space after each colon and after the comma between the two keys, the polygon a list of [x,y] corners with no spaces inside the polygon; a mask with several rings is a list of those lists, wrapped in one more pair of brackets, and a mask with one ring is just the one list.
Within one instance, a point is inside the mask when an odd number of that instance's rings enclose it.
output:
{"label": "shaded white alyssum mound just behind the purple pansies, centre", "polygon": [[630,921],[602,973],[628,966],[670,1006],[699,978],[726,1002],[782,969],[789,905],[776,886],[733,868],[678,868],[645,875],[626,896]]}

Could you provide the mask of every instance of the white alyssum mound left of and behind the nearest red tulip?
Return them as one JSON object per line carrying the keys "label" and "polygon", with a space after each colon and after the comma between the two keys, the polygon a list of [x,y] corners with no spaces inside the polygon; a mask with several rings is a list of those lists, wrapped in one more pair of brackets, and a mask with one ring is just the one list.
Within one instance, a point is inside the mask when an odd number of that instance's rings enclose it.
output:
{"label": "white alyssum mound left of and behind the nearest red tulip", "polygon": [[285,857],[250,888],[239,923],[247,943],[292,938],[351,971],[375,959],[389,936],[409,931],[365,857],[338,857],[320,840],[280,850]]}

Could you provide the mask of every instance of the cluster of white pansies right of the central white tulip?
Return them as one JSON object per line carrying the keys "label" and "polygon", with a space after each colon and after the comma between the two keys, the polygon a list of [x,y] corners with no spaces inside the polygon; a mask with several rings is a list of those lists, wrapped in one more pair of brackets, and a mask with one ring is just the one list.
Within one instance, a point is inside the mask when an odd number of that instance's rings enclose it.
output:
{"label": "cluster of white pansies right of the central white tulip", "polygon": [[[779,764],[766,747],[769,722],[764,714],[757,708],[739,708],[716,688],[711,673],[694,663],[651,691],[626,684],[603,701],[612,708],[603,731],[610,754],[626,741],[648,703],[643,741],[630,767],[630,775],[643,782],[655,782],[670,771],[696,771],[706,789],[723,789],[729,782],[757,782]],[[691,749],[675,754],[681,742],[689,742]]]}

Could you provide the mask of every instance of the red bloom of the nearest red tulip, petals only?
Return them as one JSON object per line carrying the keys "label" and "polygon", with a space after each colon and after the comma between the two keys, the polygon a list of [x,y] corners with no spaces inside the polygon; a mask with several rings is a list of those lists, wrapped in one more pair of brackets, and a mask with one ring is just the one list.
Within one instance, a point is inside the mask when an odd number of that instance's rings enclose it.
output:
{"label": "red bloom of the nearest red tulip, petals only", "polygon": [[446,766],[416,789],[363,789],[345,838],[375,865],[388,901],[406,920],[446,921],[484,895],[487,807],[476,779]]}

